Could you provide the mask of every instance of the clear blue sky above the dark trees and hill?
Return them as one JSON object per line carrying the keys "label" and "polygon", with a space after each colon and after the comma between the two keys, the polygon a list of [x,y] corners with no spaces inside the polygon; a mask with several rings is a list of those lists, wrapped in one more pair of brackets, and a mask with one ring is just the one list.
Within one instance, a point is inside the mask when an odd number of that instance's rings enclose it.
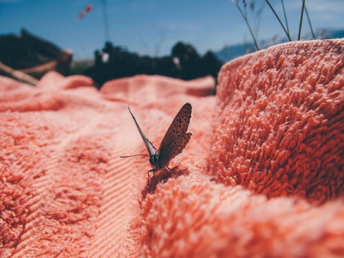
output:
{"label": "clear blue sky above the dark trees and hill", "polygon": [[[248,0],[250,2],[250,0]],[[193,44],[197,51],[220,50],[224,45],[251,41],[250,34],[230,0],[107,0],[109,36],[114,45],[131,52],[166,55],[177,41]],[[264,3],[257,0],[257,6]],[[279,14],[281,1],[270,0]],[[297,34],[301,0],[284,1],[289,27]],[[94,6],[84,19],[78,14],[88,4]],[[344,27],[343,0],[308,0],[314,29]],[[17,33],[21,28],[71,49],[74,57],[92,57],[105,43],[102,0],[0,0],[0,34]],[[258,28],[258,39],[284,36],[280,25],[266,6]],[[303,32],[309,32],[303,23]]]}

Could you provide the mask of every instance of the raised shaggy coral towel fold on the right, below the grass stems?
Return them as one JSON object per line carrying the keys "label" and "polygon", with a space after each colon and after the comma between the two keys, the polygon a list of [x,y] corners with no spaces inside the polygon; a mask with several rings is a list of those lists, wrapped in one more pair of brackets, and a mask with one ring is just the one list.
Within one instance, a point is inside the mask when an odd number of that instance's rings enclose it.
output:
{"label": "raised shaggy coral towel fold on the right, below the grass stems", "polygon": [[209,162],[219,182],[320,203],[343,191],[343,52],[343,41],[292,43],[222,67]]}

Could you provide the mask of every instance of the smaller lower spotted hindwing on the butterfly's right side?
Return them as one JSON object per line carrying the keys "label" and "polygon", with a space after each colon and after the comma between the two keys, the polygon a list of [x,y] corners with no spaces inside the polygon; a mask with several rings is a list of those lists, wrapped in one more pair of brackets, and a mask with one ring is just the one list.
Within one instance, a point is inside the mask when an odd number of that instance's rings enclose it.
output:
{"label": "smaller lower spotted hindwing on the butterfly's right side", "polygon": [[185,133],[183,136],[180,136],[173,142],[171,142],[171,144],[160,149],[158,156],[160,166],[166,166],[167,164],[169,164],[170,160],[172,160],[176,155],[181,153],[185,148],[186,144],[188,144],[191,136],[192,133]]}

